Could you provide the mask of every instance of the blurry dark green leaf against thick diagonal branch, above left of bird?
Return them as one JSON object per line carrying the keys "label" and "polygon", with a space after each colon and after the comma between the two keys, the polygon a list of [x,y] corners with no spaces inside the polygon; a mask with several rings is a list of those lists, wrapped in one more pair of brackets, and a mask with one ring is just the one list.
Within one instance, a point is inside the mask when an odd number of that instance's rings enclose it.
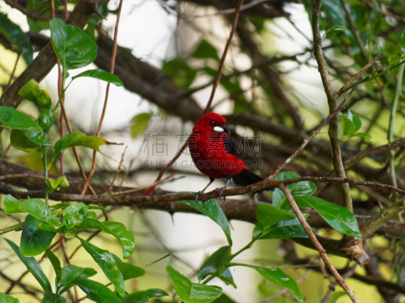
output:
{"label": "blurry dark green leaf against thick diagonal branch, above left of bird", "polygon": [[184,89],[190,87],[197,74],[184,60],[179,58],[165,62],[161,70],[170,77],[177,86]]}

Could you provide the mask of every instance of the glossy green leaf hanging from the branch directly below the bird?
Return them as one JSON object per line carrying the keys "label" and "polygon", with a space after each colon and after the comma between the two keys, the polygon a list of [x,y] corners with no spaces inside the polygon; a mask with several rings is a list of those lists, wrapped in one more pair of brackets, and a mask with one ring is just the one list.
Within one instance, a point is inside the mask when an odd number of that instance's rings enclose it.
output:
{"label": "glossy green leaf hanging from the branch directly below the bird", "polygon": [[180,202],[192,207],[193,209],[196,209],[201,214],[206,215],[215,223],[217,223],[225,232],[228,243],[230,245],[232,244],[231,230],[229,228],[228,219],[226,218],[224,211],[221,209],[216,199],[209,199],[205,201],[205,203],[203,201],[195,200],[183,200]]}

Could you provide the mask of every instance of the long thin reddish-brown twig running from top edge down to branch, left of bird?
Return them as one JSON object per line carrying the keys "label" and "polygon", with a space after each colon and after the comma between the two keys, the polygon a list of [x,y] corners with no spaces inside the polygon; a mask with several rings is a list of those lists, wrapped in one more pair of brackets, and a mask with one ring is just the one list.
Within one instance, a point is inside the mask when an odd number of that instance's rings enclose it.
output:
{"label": "long thin reddish-brown twig running from top edge down to branch, left of bird", "polygon": [[[115,29],[114,29],[114,39],[113,39],[113,47],[112,47],[112,55],[111,55],[111,65],[110,65],[110,73],[113,75],[114,74],[114,67],[115,67],[115,57],[117,55],[117,35],[118,35],[118,24],[119,24],[119,17],[121,15],[121,8],[123,7],[123,0],[119,0],[118,4],[118,10],[117,10],[117,18],[115,22]],[[98,129],[97,129],[97,137],[100,137],[101,134],[101,127],[103,126],[103,121],[104,121],[104,116],[105,112],[107,110],[107,101],[108,101],[108,94],[110,91],[110,82],[107,83],[107,88],[105,90],[105,99],[104,99],[104,106],[103,106],[103,111],[101,113],[100,117],[100,122],[98,124]],[[83,186],[82,194],[84,194],[87,190],[87,186],[89,185],[89,182],[91,178],[94,175],[94,172],[96,171],[96,161],[97,161],[97,151],[93,151],[93,164],[92,164],[92,170],[89,173],[89,176],[87,176],[87,179],[85,181],[85,184]]]}

